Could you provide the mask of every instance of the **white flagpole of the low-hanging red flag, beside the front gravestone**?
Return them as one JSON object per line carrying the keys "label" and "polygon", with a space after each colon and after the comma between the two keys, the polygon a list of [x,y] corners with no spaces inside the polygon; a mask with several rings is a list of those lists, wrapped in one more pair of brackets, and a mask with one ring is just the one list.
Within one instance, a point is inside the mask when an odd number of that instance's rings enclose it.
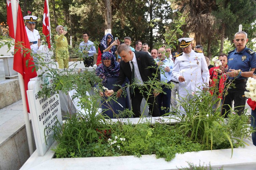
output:
{"label": "white flagpole of the low-hanging red flag, beside the front gravestone", "polygon": [[[13,14],[13,22],[14,22],[13,24],[14,33],[16,37],[17,15],[18,15],[17,11],[18,11],[19,1],[11,0],[11,3],[12,3],[12,14]],[[16,16],[14,15],[15,13],[16,13]],[[33,151],[32,134],[31,134],[30,121],[29,121],[28,109],[27,109],[27,103],[26,103],[25,86],[24,86],[24,80],[23,80],[22,74],[18,73],[18,78],[19,78],[20,93],[22,96],[22,105],[23,105],[23,113],[25,118],[26,132],[27,132],[27,138],[28,138],[28,149],[29,149],[29,154],[31,156],[34,151]]]}

